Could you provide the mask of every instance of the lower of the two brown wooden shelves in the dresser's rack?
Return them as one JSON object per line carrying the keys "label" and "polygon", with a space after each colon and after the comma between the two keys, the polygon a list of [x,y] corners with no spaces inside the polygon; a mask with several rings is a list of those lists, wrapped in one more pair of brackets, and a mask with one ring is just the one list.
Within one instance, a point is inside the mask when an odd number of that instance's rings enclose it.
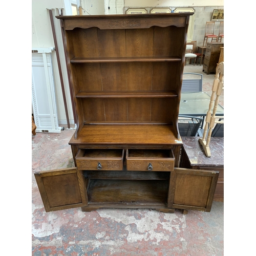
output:
{"label": "lower of the two brown wooden shelves in the dresser's rack", "polygon": [[76,98],[175,98],[178,97],[175,91],[170,92],[84,92],[77,93]]}

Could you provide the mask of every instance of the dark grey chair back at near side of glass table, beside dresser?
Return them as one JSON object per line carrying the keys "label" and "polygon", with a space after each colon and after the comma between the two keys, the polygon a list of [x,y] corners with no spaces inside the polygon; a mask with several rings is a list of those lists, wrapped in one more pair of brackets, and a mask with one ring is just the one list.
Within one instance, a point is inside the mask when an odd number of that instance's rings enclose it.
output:
{"label": "dark grey chair back at near side of glass table, beside dresser", "polygon": [[179,115],[178,128],[180,136],[198,136],[202,121],[202,117]]}

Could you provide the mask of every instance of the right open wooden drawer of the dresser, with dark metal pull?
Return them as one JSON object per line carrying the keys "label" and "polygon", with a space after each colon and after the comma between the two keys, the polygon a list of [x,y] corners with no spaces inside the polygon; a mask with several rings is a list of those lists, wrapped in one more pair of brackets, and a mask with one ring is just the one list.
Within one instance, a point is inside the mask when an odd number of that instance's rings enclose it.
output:
{"label": "right open wooden drawer of the dresser, with dark metal pull", "polygon": [[152,170],[171,172],[175,157],[172,150],[127,150],[127,170]]}

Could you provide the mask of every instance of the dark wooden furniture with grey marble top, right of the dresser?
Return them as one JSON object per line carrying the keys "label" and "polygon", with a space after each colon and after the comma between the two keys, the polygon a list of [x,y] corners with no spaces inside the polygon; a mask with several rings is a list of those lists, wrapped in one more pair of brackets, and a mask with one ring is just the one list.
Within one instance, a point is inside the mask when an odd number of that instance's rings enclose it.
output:
{"label": "dark wooden furniture with grey marble top, right of the dresser", "polygon": [[211,157],[206,157],[200,137],[181,137],[183,141],[180,167],[191,169],[217,170],[220,172],[214,200],[224,201],[224,137],[210,139]]}

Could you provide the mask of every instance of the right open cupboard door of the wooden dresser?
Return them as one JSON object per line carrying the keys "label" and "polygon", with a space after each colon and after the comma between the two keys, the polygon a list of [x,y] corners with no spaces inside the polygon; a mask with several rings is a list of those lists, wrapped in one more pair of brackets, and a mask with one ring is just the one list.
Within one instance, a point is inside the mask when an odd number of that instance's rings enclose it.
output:
{"label": "right open cupboard door of the wooden dresser", "polygon": [[174,197],[171,207],[183,210],[210,211],[219,172],[174,168]]}

